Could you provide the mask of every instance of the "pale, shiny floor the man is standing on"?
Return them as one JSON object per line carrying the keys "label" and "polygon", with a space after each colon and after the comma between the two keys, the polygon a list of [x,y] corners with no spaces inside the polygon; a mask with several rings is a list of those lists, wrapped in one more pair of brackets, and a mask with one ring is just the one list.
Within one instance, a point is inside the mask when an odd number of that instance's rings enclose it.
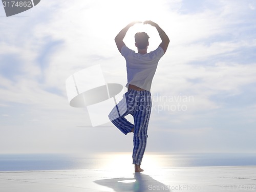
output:
{"label": "pale, shiny floor the man is standing on", "polygon": [[0,191],[256,191],[256,166],[0,172]]}

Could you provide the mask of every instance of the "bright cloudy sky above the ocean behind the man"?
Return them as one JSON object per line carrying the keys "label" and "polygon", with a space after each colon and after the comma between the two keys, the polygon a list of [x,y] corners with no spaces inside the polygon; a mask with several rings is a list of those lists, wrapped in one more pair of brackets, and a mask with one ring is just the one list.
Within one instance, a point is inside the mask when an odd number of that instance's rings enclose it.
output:
{"label": "bright cloudy sky above the ocean behind the man", "polygon": [[[126,84],[114,38],[134,20],[168,35],[151,88],[146,152],[255,153],[256,2],[253,0],[44,1],[6,17],[0,6],[0,153],[131,152],[133,136],[111,122],[93,127],[69,105],[66,79],[100,65]],[[160,44],[156,29],[134,34]],[[125,91],[125,89],[124,89]],[[132,121],[132,117],[127,117]]]}

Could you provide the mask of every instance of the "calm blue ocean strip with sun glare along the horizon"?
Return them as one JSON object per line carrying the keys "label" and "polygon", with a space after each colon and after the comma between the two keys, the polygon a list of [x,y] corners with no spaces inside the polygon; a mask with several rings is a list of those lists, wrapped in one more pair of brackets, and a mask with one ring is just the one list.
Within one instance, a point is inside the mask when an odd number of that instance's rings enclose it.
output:
{"label": "calm blue ocean strip with sun glare along the horizon", "polygon": [[[255,166],[256,154],[146,153],[142,166],[174,168],[195,166]],[[132,165],[131,153],[0,154],[0,171],[113,169]]]}

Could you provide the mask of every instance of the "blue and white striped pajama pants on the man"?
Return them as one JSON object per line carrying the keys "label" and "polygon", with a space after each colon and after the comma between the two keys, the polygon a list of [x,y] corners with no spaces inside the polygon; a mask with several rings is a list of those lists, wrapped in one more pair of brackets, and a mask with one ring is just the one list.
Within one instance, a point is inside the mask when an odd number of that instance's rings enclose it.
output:
{"label": "blue and white striped pajama pants on the man", "polygon": [[[123,133],[130,133],[134,127],[133,164],[140,165],[147,141],[147,126],[151,114],[151,93],[149,91],[128,90],[123,99],[113,108],[109,119]],[[124,116],[131,114],[134,124]]]}

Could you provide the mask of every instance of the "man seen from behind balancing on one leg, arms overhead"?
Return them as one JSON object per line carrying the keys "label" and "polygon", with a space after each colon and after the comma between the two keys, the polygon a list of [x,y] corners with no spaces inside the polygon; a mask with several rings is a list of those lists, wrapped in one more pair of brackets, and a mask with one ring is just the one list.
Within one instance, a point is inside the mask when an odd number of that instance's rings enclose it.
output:
{"label": "man seen from behind balancing on one leg, arms overhead", "polygon": [[[138,53],[135,53],[125,46],[123,38],[129,28],[136,23],[141,22],[128,24],[115,38],[116,46],[126,60],[128,91],[110,112],[109,118],[123,134],[134,133],[133,164],[135,172],[143,172],[140,165],[146,148],[147,126],[151,114],[150,89],[158,61],[167,50],[169,38],[156,23],[147,20],[143,24],[155,27],[162,42],[155,51],[147,53],[149,37],[145,32],[138,32],[135,34],[135,46]],[[128,114],[134,117],[134,124],[124,118]]]}

